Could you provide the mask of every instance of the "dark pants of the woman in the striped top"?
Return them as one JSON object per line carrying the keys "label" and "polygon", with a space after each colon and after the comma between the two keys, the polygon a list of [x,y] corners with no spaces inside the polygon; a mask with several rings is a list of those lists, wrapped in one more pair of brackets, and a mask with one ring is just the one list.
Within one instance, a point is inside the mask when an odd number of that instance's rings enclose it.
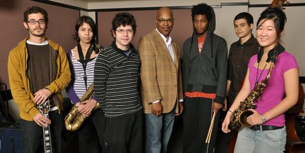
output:
{"label": "dark pants of the woman in the striped top", "polygon": [[[103,138],[103,121],[104,121],[104,112],[103,110],[99,109],[93,112],[90,115],[93,123],[95,123],[95,128],[97,129],[97,135],[99,136],[99,142],[103,144],[104,138]],[[86,121],[81,125],[81,128],[77,130],[77,133],[79,134],[79,150],[82,153],[92,152],[92,148],[90,145],[90,119],[86,119]]]}

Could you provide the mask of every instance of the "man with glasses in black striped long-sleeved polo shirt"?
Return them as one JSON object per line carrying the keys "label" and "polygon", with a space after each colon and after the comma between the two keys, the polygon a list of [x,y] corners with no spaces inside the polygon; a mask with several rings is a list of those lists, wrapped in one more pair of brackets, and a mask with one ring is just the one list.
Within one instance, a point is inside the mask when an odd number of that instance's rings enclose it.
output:
{"label": "man with glasses in black striped long-sleeved polo shirt", "polygon": [[116,14],[112,21],[115,41],[99,52],[95,62],[94,90],[101,109],[103,152],[142,152],[143,108],[138,79],[139,52],[130,43],[136,32],[135,17]]}

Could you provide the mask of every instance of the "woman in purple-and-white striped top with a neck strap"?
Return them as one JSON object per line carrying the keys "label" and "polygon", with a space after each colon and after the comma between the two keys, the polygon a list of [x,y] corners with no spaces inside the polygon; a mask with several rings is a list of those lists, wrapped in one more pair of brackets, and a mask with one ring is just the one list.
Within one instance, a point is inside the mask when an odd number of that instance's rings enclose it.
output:
{"label": "woman in purple-and-white striped top with a neck strap", "polygon": [[[66,91],[71,103],[77,107],[79,112],[91,117],[93,123],[95,123],[99,141],[102,143],[104,139],[101,128],[104,121],[104,112],[101,109],[92,112],[95,105],[97,105],[95,96],[83,102],[79,100],[93,82],[95,61],[101,51],[95,45],[96,37],[97,27],[93,19],[87,16],[79,17],[75,25],[75,34],[73,35],[73,38],[77,41],[77,46],[67,53],[71,70],[71,82]],[[79,134],[80,152],[92,152],[90,145],[90,119],[87,119],[81,125],[77,133]]]}

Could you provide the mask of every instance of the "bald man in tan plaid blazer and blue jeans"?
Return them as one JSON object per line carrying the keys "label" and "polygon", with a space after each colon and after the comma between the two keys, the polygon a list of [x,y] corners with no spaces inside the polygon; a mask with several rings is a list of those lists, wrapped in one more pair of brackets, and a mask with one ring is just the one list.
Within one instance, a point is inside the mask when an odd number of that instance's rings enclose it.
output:
{"label": "bald man in tan plaid blazer and blue jeans", "polygon": [[166,153],[175,113],[184,110],[179,47],[169,36],[174,25],[170,8],[158,10],[156,23],[138,45],[146,153]]}

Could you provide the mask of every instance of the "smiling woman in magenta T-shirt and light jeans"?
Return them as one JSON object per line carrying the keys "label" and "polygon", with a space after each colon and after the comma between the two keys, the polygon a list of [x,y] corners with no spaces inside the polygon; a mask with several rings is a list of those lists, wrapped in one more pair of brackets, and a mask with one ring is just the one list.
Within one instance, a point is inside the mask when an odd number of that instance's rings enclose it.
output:
{"label": "smiling woman in magenta T-shirt and light jeans", "polygon": [[[271,57],[277,55],[275,67],[262,99],[257,99],[257,108],[247,117],[252,128],[244,128],[238,133],[235,152],[284,152],[286,145],[285,116],[289,108],[297,103],[299,93],[299,68],[293,55],[285,51],[279,43],[284,32],[286,14],[279,8],[267,8],[257,21],[257,41],[259,54],[248,63],[248,71],[242,90],[228,110],[222,131],[230,132],[228,125],[233,112],[238,109],[256,84],[266,79]],[[286,94],[285,98],[284,94]]]}

